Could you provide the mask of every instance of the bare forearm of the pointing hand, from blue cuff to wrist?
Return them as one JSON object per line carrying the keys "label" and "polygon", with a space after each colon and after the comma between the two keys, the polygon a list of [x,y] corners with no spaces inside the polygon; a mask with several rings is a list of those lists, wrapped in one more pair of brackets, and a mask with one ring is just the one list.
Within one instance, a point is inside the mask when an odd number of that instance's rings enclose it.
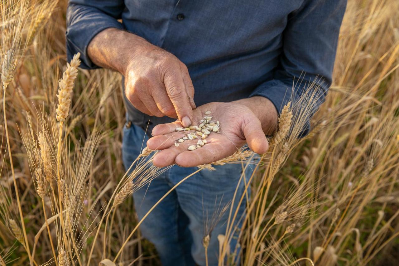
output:
{"label": "bare forearm of the pointing hand, from blue cuff to wrist", "polygon": [[117,70],[124,75],[132,58],[148,46],[152,44],[137,35],[107,28],[91,40],[87,54],[97,66]]}

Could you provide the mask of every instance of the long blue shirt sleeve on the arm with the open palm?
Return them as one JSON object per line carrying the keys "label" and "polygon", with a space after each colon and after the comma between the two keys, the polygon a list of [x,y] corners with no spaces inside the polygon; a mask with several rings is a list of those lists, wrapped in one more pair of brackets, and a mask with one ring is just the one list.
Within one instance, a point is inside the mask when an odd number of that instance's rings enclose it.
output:
{"label": "long blue shirt sleeve on the arm with the open palm", "polygon": [[[315,95],[317,100],[312,102],[301,135],[310,131],[310,118],[323,103],[332,83],[345,9],[346,0],[305,0],[288,17],[283,33],[283,52],[274,78],[259,85],[250,95],[270,99],[279,113],[288,101],[295,103],[305,91]],[[308,91],[310,84],[313,84],[310,86],[313,91]]]}

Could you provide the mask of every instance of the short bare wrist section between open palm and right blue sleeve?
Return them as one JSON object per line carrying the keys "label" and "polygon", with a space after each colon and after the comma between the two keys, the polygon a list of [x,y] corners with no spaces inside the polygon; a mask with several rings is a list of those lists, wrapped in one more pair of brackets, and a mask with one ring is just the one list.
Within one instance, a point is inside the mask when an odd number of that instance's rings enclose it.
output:
{"label": "short bare wrist section between open palm and right blue sleeve", "polygon": [[262,96],[254,96],[234,102],[245,105],[251,109],[256,117],[261,121],[263,132],[265,132],[266,135],[272,135],[275,133],[277,130],[278,114],[276,107],[269,99]]}

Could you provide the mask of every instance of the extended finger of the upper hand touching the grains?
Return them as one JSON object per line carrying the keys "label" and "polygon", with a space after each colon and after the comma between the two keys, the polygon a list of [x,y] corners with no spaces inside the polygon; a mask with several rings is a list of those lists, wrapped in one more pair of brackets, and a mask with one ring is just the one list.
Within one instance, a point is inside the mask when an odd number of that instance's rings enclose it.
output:
{"label": "extended finger of the upper hand touching the grains", "polygon": [[180,73],[180,67],[165,73],[164,84],[166,93],[172,102],[180,123],[189,127],[193,122],[193,109],[188,98],[186,87]]}

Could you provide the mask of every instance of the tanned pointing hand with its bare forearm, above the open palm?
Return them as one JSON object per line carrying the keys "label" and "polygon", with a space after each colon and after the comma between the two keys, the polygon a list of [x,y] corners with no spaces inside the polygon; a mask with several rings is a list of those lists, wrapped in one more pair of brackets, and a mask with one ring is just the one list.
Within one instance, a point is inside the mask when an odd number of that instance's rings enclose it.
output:
{"label": "tanned pointing hand with its bare forearm, above the open palm", "polygon": [[115,28],[97,34],[87,52],[93,63],[124,75],[126,97],[136,109],[178,118],[184,127],[194,120],[194,86],[186,65],[176,56]]}

